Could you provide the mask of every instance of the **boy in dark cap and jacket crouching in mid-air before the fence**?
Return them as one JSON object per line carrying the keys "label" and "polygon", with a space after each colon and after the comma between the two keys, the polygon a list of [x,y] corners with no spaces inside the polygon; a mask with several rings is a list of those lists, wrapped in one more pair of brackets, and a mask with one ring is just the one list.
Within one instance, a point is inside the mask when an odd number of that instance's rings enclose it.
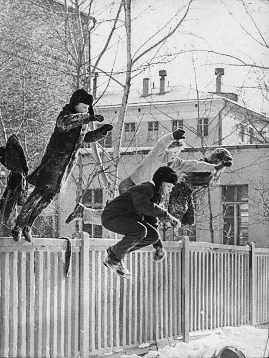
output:
{"label": "boy in dark cap and jacket crouching in mid-air before the fence", "polygon": [[174,227],[180,227],[180,221],[159,204],[176,182],[177,175],[171,168],[160,167],[154,173],[152,182],[136,185],[106,205],[101,216],[102,225],[124,237],[108,248],[105,266],[128,279],[130,273],[123,263],[126,253],[152,244],[156,250],[154,260],[164,258],[157,218],[170,221]]}

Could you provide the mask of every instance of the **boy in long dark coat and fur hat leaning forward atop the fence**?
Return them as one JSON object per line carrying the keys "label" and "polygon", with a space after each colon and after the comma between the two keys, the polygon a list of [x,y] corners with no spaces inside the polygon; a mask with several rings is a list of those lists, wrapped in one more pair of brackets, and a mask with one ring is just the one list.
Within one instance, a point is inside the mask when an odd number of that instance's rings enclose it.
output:
{"label": "boy in long dark coat and fur hat leaning forward atop the fence", "polygon": [[15,241],[31,241],[31,227],[39,214],[60,192],[62,183],[66,182],[75,165],[76,154],[83,142],[95,142],[105,137],[113,126],[105,124],[98,129],[88,131],[90,121],[102,122],[104,118],[94,115],[92,96],[78,89],[63,107],[56,120],[45,154],[40,165],[28,176],[28,183],[35,186],[16,219],[12,230]]}

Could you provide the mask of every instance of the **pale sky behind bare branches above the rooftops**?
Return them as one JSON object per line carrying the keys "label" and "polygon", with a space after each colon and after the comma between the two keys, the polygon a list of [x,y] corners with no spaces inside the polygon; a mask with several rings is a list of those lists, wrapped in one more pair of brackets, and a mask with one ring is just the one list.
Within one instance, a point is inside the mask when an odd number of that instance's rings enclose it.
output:
{"label": "pale sky behind bare branches above the rooftops", "polygon": [[[168,30],[173,28],[183,15],[185,10],[183,6],[187,2],[187,0],[133,0],[132,55],[182,8],[178,16],[142,49],[146,49],[148,45],[155,43],[156,40],[167,34]],[[111,6],[107,6],[108,3],[108,0],[93,2],[92,15],[96,17],[97,21],[114,18]],[[268,0],[194,0],[184,24],[158,50],[157,57],[152,60],[158,62],[160,60],[158,56],[169,54],[171,61],[147,67],[147,62],[150,61],[156,50],[150,52],[150,55],[146,55],[138,62],[138,65],[145,66],[145,71],[143,73],[135,72],[137,76],[132,80],[132,88],[141,89],[143,77],[150,77],[151,81],[158,84],[158,71],[166,69],[166,81],[167,83],[169,81],[170,86],[184,85],[195,88],[196,72],[198,89],[215,91],[214,69],[223,67],[225,75],[222,77],[222,91],[235,92],[239,95],[241,104],[244,101],[248,108],[268,113],[268,103],[263,100],[260,91],[256,88],[249,88],[256,87],[257,79],[265,78],[265,72],[256,71],[248,66],[231,66],[231,64],[240,64],[240,62],[208,52],[194,51],[176,55],[182,50],[214,50],[239,57],[246,63],[269,67],[268,47],[264,45],[261,37],[263,36],[268,44],[268,13]],[[121,19],[123,19],[123,11]],[[93,60],[102,48],[109,26],[111,26],[109,22],[101,23],[92,34]],[[126,64],[124,34],[122,25],[121,29],[117,30],[117,35],[113,37],[113,45],[99,67],[110,72],[114,66],[113,72],[124,72]],[[138,51],[137,54],[141,51]],[[124,82],[124,76],[117,75],[116,78],[120,82]],[[268,75],[265,79],[268,82]],[[107,77],[102,75],[98,80],[100,85],[107,83]],[[115,89],[115,86],[118,86],[116,82],[109,83],[110,89]],[[240,89],[241,86],[243,89]]]}

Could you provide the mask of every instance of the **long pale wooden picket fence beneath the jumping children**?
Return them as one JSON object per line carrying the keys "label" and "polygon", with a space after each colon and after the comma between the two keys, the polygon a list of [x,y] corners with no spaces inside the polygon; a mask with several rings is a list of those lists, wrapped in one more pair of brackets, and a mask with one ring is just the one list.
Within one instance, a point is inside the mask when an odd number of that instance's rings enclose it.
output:
{"label": "long pale wooden picket fence beneath the jumping children", "polygon": [[89,357],[269,314],[269,250],[165,242],[127,255],[129,281],[102,263],[115,241],[0,238],[0,357]]}

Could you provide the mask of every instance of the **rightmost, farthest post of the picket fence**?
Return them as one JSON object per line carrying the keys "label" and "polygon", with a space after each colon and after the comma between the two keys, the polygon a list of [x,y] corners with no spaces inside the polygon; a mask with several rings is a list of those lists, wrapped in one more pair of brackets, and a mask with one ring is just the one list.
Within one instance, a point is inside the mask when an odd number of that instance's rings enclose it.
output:
{"label": "rightmost, farthest post of the picket fence", "polygon": [[256,324],[256,265],[255,265],[255,244],[249,243],[249,323],[252,326]]}

